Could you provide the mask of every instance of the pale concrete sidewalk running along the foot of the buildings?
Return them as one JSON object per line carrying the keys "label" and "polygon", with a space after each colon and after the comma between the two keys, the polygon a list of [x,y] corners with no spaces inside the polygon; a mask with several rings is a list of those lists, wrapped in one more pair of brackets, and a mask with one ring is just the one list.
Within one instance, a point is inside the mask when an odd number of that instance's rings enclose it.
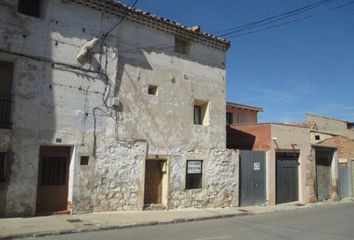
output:
{"label": "pale concrete sidewalk running along the foot of the buildings", "polygon": [[172,224],[178,222],[288,211],[299,208],[336,205],[348,202],[352,203],[353,201],[351,199],[346,199],[341,202],[321,202],[306,205],[289,203],[277,206],[252,206],[223,209],[126,211],[31,218],[3,218],[0,219],[0,239],[38,237],[66,233],[132,228],[157,224]]}

